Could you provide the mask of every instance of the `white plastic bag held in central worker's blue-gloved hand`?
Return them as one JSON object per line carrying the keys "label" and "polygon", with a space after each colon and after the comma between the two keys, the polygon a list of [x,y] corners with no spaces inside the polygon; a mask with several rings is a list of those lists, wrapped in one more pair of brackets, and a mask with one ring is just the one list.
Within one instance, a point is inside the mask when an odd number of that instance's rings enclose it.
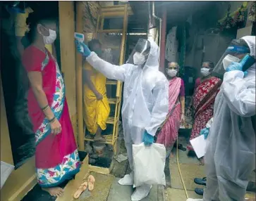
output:
{"label": "white plastic bag held in central worker's blue-gloved hand", "polygon": [[134,187],[149,185],[166,185],[164,166],[166,149],[164,145],[144,143],[133,145]]}

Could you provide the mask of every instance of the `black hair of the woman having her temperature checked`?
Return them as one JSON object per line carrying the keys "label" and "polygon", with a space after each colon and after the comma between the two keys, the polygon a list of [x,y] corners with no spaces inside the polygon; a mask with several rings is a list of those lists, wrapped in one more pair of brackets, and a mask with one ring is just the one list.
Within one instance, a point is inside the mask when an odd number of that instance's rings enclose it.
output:
{"label": "black hair of the woman having her temperature checked", "polygon": [[26,39],[28,39],[29,45],[35,40],[37,25],[39,23],[47,23],[57,21],[58,14],[56,12],[46,11],[44,9],[34,11],[28,15],[26,24],[29,26],[30,31],[25,34]]}

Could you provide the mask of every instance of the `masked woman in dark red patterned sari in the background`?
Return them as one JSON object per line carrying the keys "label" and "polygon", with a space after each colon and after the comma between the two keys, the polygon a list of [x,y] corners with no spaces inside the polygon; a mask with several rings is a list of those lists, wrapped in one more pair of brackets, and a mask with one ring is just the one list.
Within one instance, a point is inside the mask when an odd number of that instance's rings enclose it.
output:
{"label": "masked woman in dark red patterned sari in the background", "polygon": [[[221,79],[212,76],[214,63],[205,61],[201,67],[201,78],[195,81],[195,92],[193,95],[193,129],[191,131],[190,140],[200,135],[200,131],[205,128],[209,119],[214,113],[214,100],[221,86]],[[193,147],[188,145],[189,153],[193,151]],[[201,160],[203,163],[203,160]]]}

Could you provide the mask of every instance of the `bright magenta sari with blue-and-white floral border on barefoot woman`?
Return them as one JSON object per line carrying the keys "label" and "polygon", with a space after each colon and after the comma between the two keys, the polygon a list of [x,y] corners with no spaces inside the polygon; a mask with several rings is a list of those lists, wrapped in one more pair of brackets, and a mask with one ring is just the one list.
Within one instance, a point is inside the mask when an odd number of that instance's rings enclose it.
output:
{"label": "bright magenta sari with blue-and-white floral border on barefoot woman", "polygon": [[30,88],[28,112],[35,132],[37,181],[44,188],[58,186],[66,179],[71,179],[80,169],[63,77],[51,53],[47,51],[45,56],[34,46],[25,49],[23,65],[28,72],[42,73],[42,88],[52,112],[61,124],[61,133],[54,135],[49,120]]}

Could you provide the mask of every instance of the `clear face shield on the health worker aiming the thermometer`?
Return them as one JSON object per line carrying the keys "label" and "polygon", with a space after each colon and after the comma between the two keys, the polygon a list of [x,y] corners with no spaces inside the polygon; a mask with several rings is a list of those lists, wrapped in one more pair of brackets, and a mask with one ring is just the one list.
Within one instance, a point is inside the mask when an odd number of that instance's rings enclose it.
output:
{"label": "clear face shield on the health worker aiming the thermometer", "polygon": [[150,54],[150,41],[139,39],[126,63],[144,65]]}

